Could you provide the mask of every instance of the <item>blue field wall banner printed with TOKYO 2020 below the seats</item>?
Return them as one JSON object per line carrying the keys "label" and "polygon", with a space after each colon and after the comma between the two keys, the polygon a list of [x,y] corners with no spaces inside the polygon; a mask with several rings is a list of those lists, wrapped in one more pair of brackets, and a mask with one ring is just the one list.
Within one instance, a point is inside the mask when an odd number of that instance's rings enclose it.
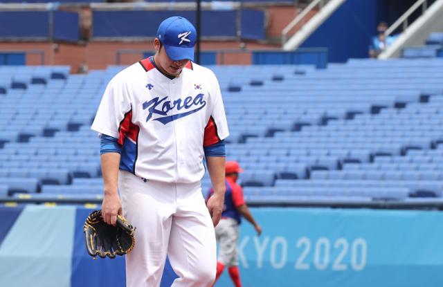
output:
{"label": "blue field wall banner printed with TOKYO 2020 below the seats", "polygon": [[[443,286],[443,213],[253,208],[242,224],[244,286]],[[0,286],[125,286],[125,260],[84,249],[83,207],[0,207]],[[174,273],[165,270],[162,287]],[[232,286],[228,275],[216,286]]]}

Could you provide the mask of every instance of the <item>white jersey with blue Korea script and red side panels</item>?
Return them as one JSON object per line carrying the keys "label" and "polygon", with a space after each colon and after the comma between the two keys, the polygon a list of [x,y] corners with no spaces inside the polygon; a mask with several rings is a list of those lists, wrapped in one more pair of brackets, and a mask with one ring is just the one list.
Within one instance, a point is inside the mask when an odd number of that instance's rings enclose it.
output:
{"label": "white jersey with blue Korea script and red side panels", "polygon": [[229,135],[212,71],[189,62],[171,80],[150,58],[109,82],[91,129],[118,138],[120,169],[166,183],[201,180],[204,147]]}

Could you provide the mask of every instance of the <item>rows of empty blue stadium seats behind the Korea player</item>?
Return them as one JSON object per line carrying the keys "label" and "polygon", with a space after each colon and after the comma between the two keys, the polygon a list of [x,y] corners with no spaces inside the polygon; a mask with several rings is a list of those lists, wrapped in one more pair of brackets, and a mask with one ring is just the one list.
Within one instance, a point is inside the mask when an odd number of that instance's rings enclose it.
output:
{"label": "rows of empty blue stadium seats behind the Korea player", "polygon": [[[0,67],[0,194],[101,196],[90,124],[123,68],[69,75],[63,66]],[[228,160],[246,170],[247,200],[442,196],[442,60],[210,68],[224,94]],[[202,191],[209,188],[206,174]]]}

